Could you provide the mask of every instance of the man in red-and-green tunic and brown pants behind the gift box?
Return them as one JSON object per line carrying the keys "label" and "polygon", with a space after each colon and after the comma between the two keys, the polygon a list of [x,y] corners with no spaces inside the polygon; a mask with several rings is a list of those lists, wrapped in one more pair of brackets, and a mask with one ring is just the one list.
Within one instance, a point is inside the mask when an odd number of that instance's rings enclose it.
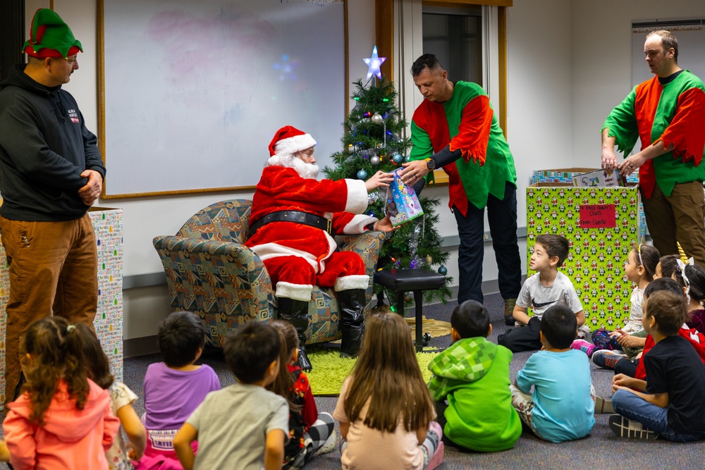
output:
{"label": "man in red-and-green tunic and brown pants behind the gift box", "polygon": [[[678,254],[676,242],[705,266],[705,88],[678,66],[678,41],[668,31],[646,36],[644,54],[655,76],[637,85],[602,125],[602,167],[629,175],[639,168],[639,190],[654,247]],[[639,153],[620,165],[614,152]]]}

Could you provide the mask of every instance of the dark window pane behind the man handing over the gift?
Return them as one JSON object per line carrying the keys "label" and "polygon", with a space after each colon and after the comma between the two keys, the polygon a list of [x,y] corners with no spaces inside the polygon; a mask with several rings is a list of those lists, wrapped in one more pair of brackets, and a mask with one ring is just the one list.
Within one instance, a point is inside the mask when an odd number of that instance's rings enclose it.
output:
{"label": "dark window pane behind the man handing over the gift", "polygon": [[450,80],[483,85],[482,6],[424,6],[424,54],[435,54]]}

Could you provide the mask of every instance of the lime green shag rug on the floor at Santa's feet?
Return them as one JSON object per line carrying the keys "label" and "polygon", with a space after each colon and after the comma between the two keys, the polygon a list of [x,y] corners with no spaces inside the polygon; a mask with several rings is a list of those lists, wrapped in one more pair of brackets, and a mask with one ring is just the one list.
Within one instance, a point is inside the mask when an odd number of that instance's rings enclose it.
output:
{"label": "lime green shag rug on the floor at Santa's feet", "polygon": [[[308,348],[307,348],[308,349]],[[419,361],[421,373],[424,381],[431,378],[429,362],[437,352],[417,352],[416,359]],[[313,370],[306,375],[311,383],[311,390],[314,395],[340,395],[345,377],[350,375],[357,359],[345,359],[341,357],[338,350],[312,350],[307,352]]]}

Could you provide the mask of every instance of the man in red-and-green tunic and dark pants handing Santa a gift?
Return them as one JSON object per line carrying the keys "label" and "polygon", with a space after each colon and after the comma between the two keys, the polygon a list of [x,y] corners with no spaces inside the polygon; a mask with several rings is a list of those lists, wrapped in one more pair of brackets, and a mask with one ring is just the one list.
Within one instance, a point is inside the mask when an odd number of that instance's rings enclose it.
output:
{"label": "man in red-and-green tunic and dark pants handing Santa a gift", "polygon": [[403,179],[414,185],[426,175],[431,182],[435,168],[448,173],[448,206],[455,214],[460,237],[458,304],[483,301],[487,208],[505,323],[513,325],[522,264],[517,243],[517,173],[509,145],[482,87],[448,80],[448,72],[433,54],[417,58],[411,74],[424,101],[412,119],[413,148],[411,161],[404,163]]}

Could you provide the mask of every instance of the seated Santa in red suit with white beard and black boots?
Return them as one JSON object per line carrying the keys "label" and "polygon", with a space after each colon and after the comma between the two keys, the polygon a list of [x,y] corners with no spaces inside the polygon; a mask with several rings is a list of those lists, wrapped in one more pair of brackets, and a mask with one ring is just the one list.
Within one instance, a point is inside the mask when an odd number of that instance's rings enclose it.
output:
{"label": "seated Santa in red suit with white beard and black boots", "polygon": [[319,181],[315,145],[310,134],[290,125],[276,132],[252,198],[245,242],[266,266],[276,290],[279,318],[290,321],[298,332],[299,365],[304,370],[311,369],[304,344],[314,285],[336,290],[343,332],[341,355],[357,356],[362,342],[369,276],[359,254],[336,252],[333,235],[392,230],[388,217],[379,221],[362,214],[367,209],[367,192],[388,186],[392,175],[379,171],[367,182]]}

